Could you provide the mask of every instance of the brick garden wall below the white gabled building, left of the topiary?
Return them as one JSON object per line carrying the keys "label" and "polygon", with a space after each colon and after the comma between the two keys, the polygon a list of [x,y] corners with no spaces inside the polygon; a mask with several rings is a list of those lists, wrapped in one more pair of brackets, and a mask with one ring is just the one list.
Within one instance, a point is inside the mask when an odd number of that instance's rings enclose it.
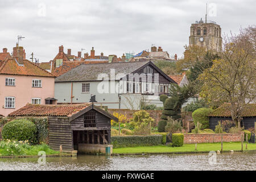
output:
{"label": "brick garden wall below the white gabled building, left of the topiary", "polygon": [[[114,112],[117,112],[119,114],[126,115],[127,119],[133,118],[133,113],[139,111],[139,110],[130,110],[130,109],[108,109],[110,114],[113,114]],[[146,110],[150,117],[155,119],[156,125],[158,124],[160,117],[162,115],[162,110]]]}

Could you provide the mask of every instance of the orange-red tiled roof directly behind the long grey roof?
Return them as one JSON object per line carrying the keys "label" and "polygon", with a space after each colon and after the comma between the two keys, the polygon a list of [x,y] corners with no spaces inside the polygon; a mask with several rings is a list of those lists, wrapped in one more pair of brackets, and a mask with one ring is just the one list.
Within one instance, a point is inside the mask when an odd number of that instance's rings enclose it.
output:
{"label": "orange-red tiled roof directly behind the long grey roof", "polygon": [[63,61],[63,64],[56,68],[53,75],[60,76],[67,73],[72,68],[76,68],[81,64],[95,64],[95,63],[108,63],[109,61]]}

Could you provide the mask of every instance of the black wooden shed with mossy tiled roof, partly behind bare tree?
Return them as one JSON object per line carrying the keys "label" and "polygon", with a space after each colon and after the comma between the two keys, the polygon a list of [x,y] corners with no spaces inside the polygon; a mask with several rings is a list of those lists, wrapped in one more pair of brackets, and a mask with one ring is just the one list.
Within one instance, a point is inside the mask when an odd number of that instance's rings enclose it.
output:
{"label": "black wooden shed with mossy tiled roof, partly behind bare tree", "polygon": [[[248,104],[242,111],[241,127],[245,129],[255,128],[256,125],[256,104]],[[214,130],[215,126],[218,125],[218,121],[232,120],[230,113],[230,104],[225,103],[215,109],[209,115],[210,129]]]}

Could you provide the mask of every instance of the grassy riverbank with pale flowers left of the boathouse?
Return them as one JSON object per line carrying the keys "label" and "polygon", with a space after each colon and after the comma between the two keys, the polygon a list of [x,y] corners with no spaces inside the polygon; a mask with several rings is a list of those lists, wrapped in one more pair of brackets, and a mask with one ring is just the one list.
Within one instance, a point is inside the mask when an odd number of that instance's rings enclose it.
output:
{"label": "grassy riverbank with pale flowers left of the boathouse", "polygon": [[49,154],[59,154],[59,151],[54,151],[47,144],[30,145],[28,142],[22,141],[1,141],[0,156],[23,156],[23,155],[38,155],[39,151]]}

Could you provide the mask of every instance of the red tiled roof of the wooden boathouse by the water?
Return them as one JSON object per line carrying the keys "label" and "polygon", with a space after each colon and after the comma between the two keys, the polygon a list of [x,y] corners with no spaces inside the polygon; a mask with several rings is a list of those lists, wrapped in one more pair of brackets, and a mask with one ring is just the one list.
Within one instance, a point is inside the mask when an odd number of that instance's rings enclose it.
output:
{"label": "red tiled roof of the wooden boathouse by the water", "polygon": [[67,116],[71,117],[73,114],[89,107],[92,103],[74,104],[74,105],[40,105],[40,104],[27,104],[26,106],[13,111],[9,116]]}

